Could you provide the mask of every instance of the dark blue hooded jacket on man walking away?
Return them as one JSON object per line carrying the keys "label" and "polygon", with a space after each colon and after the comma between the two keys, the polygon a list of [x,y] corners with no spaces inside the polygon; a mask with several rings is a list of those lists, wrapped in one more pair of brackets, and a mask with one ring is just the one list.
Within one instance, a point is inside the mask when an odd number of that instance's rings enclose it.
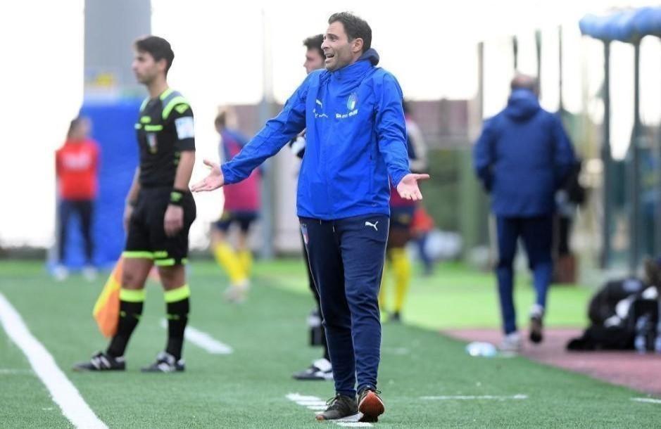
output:
{"label": "dark blue hooded jacket on man walking away", "polygon": [[532,91],[515,89],[507,107],[484,122],[473,161],[494,214],[534,217],[553,213],[574,150],[560,119]]}

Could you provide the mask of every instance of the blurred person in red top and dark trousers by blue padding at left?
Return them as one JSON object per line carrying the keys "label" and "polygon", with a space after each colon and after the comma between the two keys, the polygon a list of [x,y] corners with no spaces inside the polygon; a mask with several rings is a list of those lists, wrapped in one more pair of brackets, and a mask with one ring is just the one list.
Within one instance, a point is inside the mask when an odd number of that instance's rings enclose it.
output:
{"label": "blurred person in red top and dark trousers by blue padding at left", "polygon": [[86,117],[71,121],[64,145],[55,153],[58,196],[58,264],[53,272],[62,281],[68,276],[65,267],[68,225],[72,214],[80,218],[85,244],[85,267],[83,275],[88,280],[96,276],[93,265],[94,240],[92,238],[92,215],[98,186],[99,146],[89,138],[91,125]]}

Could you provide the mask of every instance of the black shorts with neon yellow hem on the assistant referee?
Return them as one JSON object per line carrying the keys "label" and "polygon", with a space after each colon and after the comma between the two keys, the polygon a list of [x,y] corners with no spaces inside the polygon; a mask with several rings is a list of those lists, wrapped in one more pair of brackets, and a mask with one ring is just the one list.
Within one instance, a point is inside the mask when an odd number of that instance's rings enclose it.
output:
{"label": "black shorts with neon yellow hem on the assistant referee", "polygon": [[142,188],[129,222],[123,257],[153,260],[159,267],[186,264],[188,231],[196,217],[195,200],[184,193],[184,226],[176,236],[168,237],[163,228],[165,210],[170,204],[172,188]]}

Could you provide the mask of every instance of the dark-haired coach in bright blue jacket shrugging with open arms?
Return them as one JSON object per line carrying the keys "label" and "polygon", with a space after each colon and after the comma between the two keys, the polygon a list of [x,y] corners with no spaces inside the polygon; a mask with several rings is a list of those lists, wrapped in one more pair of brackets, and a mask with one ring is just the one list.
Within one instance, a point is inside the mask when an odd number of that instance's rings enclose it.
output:
{"label": "dark-haired coach in bright blue jacket shrugging with open arms", "polygon": [[417,181],[429,175],[409,171],[402,91],[393,75],[375,67],[379,56],[370,49],[370,26],[351,13],[335,13],[328,23],[322,44],[325,70],[311,72],[282,112],[231,162],[221,168],[205,160],[211,172],[192,189],[212,191],[245,179],[307,128],[296,205],[336,390],[317,419],[360,412],[361,421],[377,421],[384,412],[376,390],[381,348],[377,297],[389,186],[403,198],[421,200]]}

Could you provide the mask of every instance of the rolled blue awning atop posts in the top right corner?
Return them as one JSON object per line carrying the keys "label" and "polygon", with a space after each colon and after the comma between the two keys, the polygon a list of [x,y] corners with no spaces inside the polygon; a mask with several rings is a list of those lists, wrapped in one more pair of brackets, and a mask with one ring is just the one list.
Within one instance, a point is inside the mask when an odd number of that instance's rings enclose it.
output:
{"label": "rolled blue awning atop posts in the top right corner", "polygon": [[661,6],[631,9],[579,21],[581,33],[595,39],[638,41],[645,36],[661,37]]}

